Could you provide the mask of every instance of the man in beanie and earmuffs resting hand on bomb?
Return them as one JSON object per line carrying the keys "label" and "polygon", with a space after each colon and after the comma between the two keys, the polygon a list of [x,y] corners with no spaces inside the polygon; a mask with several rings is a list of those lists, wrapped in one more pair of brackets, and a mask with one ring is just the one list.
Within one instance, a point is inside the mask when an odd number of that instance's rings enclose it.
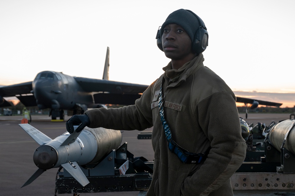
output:
{"label": "man in beanie and earmuffs resting hand on bomb", "polygon": [[70,118],[67,130],[72,133],[73,124],[81,122],[118,130],[153,126],[148,196],[233,195],[230,177],[245,158],[246,144],[234,93],[203,65],[206,27],[196,14],[179,9],[168,16],[157,38],[171,62],[135,105],[88,110]]}

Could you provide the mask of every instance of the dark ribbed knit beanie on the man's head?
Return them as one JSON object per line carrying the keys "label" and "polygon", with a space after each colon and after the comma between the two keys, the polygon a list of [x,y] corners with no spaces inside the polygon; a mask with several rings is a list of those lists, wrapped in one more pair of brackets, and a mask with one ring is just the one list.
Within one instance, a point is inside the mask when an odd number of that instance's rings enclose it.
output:
{"label": "dark ribbed knit beanie on the man's head", "polygon": [[180,25],[191,38],[191,42],[193,42],[195,33],[201,26],[198,18],[193,13],[191,13],[191,11],[188,11],[186,9],[178,9],[176,11],[173,11],[171,14],[169,14],[165,22],[162,24],[162,27],[160,29],[161,39],[162,39],[164,27],[167,24]]}

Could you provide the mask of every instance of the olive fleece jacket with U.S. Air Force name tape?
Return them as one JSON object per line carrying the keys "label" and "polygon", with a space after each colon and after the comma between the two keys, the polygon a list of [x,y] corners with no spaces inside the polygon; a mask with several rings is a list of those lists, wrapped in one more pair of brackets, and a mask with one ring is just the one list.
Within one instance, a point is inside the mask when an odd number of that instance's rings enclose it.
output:
{"label": "olive fleece jacket with U.S. Air Force name tape", "polygon": [[[154,172],[147,196],[233,195],[230,177],[246,154],[236,98],[203,61],[200,54],[179,70],[171,70],[168,64],[135,105],[86,111],[91,128],[144,130],[153,126]],[[164,115],[172,138],[189,152],[210,149],[201,164],[184,164],[168,149],[158,108],[163,77]]]}

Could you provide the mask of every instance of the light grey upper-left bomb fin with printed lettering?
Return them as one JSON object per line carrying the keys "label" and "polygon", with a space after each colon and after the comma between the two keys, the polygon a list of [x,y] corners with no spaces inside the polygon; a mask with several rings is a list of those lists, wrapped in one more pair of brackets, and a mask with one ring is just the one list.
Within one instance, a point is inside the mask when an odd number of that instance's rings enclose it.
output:
{"label": "light grey upper-left bomb fin with printed lettering", "polygon": [[52,140],[30,124],[19,124],[19,126],[22,127],[22,129],[24,129],[40,146]]}

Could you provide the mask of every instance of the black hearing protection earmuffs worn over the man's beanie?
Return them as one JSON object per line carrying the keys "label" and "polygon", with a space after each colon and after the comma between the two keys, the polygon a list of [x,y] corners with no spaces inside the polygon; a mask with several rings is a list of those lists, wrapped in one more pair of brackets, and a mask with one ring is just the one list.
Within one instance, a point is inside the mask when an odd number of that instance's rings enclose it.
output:
{"label": "black hearing protection earmuffs worn over the man's beanie", "polygon": [[[195,36],[194,36],[194,40],[191,44],[191,48],[192,48],[192,51],[196,54],[200,54],[202,52],[204,52],[208,46],[208,38],[209,38],[209,35],[208,35],[208,32],[207,32],[207,28],[203,22],[203,20],[198,17],[194,12],[190,11],[190,10],[187,10],[189,12],[191,12],[192,14],[194,14],[194,16],[196,16],[196,18],[199,20],[201,26],[199,27],[199,30],[197,30],[195,32]],[[162,39],[161,39],[161,36],[160,36],[160,27],[158,29],[158,32],[157,32],[157,36],[156,36],[156,39],[157,39],[157,46],[160,50],[164,51],[163,50],[163,46],[162,46]]]}

